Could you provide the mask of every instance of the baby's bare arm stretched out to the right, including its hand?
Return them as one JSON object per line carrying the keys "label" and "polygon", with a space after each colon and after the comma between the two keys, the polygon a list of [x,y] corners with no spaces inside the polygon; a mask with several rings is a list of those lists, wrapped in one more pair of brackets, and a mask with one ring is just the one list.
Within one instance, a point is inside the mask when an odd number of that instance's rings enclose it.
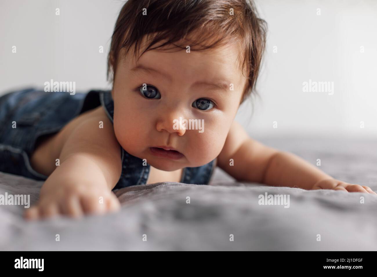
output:
{"label": "baby's bare arm stretched out to the right, including its hand", "polygon": [[[234,160],[233,166],[230,159]],[[218,165],[239,181],[305,190],[333,189],[376,194],[369,187],[336,180],[296,155],[262,145],[251,139],[235,121],[218,156]]]}

